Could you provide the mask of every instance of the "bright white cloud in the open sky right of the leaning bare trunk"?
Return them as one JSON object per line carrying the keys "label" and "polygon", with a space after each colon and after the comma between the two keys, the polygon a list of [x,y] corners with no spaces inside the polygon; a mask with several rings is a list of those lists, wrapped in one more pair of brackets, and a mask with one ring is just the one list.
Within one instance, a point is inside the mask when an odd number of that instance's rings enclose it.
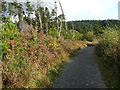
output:
{"label": "bright white cloud in the open sky right of the leaning bare trunk", "polygon": [[[116,7],[119,0],[61,0],[64,11],[68,19],[74,19],[77,14],[89,13],[95,17],[100,17]],[[88,15],[89,17],[89,15]]]}

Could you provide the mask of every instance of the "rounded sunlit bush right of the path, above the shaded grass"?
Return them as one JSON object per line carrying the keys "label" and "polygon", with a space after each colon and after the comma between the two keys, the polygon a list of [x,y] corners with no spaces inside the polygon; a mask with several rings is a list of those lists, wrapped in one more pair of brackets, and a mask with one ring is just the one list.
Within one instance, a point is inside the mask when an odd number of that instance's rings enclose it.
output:
{"label": "rounded sunlit bush right of the path, above the shaded grass", "polygon": [[107,29],[104,33],[100,36],[100,42],[96,47],[97,55],[109,58],[114,60],[114,62],[118,63],[119,57],[119,33],[113,29]]}

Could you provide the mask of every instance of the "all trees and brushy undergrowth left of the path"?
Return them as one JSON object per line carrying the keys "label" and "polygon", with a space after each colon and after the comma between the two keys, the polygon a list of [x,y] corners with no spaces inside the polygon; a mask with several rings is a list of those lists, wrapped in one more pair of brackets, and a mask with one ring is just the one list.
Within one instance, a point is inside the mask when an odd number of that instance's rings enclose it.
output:
{"label": "all trees and brushy undergrowth left of the path", "polygon": [[[50,12],[47,7],[41,7],[40,2],[36,9],[29,1],[0,4],[2,87],[50,88],[69,56],[86,46],[81,41],[82,35],[75,30],[66,30],[64,15],[56,16],[55,9]],[[32,13],[35,18],[31,18]]]}

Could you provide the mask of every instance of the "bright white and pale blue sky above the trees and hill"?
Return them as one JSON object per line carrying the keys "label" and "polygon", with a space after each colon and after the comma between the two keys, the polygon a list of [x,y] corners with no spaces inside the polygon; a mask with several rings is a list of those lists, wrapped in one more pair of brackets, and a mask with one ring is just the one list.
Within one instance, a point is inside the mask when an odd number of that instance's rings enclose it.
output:
{"label": "bright white and pale blue sky above the trees and hill", "polygon": [[[26,0],[18,1],[23,2]],[[35,2],[37,0],[29,1]],[[55,0],[41,0],[41,1],[45,2],[46,4],[50,2],[54,4]],[[60,0],[60,1],[63,6],[67,21],[118,19],[118,2],[120,0]],[[61,13],[59,5],[58,12]]]}

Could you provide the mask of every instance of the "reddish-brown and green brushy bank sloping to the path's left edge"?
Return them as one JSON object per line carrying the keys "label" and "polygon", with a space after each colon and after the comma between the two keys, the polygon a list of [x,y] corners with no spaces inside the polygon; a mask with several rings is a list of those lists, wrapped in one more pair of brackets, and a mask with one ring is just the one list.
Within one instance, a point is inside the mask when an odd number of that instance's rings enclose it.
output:
{"label": "reddish-brown and green brushy bank sloping to the path's left edge", "polygon": [[3,88],[50,88],[69,56],[86,46],[48,34],[6,32],[1,39]]}

